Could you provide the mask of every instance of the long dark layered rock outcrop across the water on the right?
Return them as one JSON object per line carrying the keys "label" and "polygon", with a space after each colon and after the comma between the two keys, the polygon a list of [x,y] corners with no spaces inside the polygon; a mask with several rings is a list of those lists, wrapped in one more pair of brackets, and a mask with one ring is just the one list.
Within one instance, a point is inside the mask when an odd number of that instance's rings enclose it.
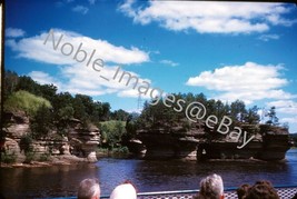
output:
{"label": "long dark layered rock outcrop across the water on the right", "polygon": [[[288,130],[268,125],[242,125],[241,128],[255,136],[253,140],[238,149],[238,140],[208,131],[202,123],[188,129],[182,127],[151,128],[138,131],[138,139],[146,147],[149,159],[260,159],[281,160],[290,148]],[[239,143],[242,142],[240,138]]]}

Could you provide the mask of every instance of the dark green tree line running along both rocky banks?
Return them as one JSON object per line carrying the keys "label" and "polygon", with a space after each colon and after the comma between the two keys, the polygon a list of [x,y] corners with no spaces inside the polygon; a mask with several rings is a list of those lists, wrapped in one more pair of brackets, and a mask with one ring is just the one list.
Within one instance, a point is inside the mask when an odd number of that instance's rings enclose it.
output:
{"label": "dark green tree line running along both rocky banks", "polygon": [[[4,111],[24,110],[30,117],[33,139],[48,136],[52,129],[57,130],[58,135],[67,136],[68,122],[73,118],[86,126],[93,123],[99,127],[102,145],[107,148],[125,145],[139,129],[165,126],[170,129],[182,126],[188,130],[191,127],[185,111],[166,107],[162,99],[146,101],[140,115],[128,113],[122,109],[111,111],[108,102],[96,101],[86,94],[58,92],[58,88],[53,84],[40,84],[28,76],[18,76],[12,71],[6,71],[3,90]],[[235,122],[249,125],[257,125],[260,121],[259,108],[257,106],[247,108],[241,100],[224,103],[221,100],[207,99],[204,93],[172,94],[176,100],[185,101],[184,110],[194,101],[202,103],[207,110],[206,118],[210,115],[217,118],[227,116]],[[275,107],[268,111],[267,118],[268,125],[279,125]]]}

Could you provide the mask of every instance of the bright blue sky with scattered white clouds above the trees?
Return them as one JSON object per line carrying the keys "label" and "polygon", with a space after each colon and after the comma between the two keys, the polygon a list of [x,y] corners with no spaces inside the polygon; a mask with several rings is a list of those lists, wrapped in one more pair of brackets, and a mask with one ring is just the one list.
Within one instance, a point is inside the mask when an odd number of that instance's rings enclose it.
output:
{"label": "bright blue sky with scattered white clouds above the trees", "polygon": [[[6,69],[59,91],[138,110],[138,91],[107,81],[120,67],[165,92],[204,92],[248,107],[276,107],[297,132],[297,8],[284,3],[11,0]],[[56,41],[43,44],[50,29]],[[105,61],[100,72],[65,56],[69,42]],[[69,49],[68,49],[69,50]],[[65,49],[67,51],[67,48]],[[148,97],[142,97],[142,101]]]}

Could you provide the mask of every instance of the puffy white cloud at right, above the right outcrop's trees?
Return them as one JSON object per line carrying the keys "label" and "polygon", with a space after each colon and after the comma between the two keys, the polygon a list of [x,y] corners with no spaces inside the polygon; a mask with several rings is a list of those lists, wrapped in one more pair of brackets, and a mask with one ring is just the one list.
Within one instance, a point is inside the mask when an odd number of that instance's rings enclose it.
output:
{"label": "puffy white cloud at right, above the right outcrop's trees", "polygon": [[190,77],[188,86],[205,87],[220,92],[216,98],[225,101],[241,99],[246,103],[261,99],[293,99],[291,94],[281,90],[288,83],[280,77],[281,66],[263,66],[246,62],[244,66],[226,66],[214,71],[204,71]]}

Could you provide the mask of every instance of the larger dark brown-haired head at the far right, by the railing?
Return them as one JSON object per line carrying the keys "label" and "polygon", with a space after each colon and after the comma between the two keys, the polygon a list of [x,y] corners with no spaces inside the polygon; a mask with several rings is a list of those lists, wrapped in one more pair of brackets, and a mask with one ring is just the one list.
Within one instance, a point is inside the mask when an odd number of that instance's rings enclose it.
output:
{"label": "larger dark brown-haired head at the far right, by the railing", "polygon": [[269,181],[257,181],[244,199],[279,199],[279,196]]}

